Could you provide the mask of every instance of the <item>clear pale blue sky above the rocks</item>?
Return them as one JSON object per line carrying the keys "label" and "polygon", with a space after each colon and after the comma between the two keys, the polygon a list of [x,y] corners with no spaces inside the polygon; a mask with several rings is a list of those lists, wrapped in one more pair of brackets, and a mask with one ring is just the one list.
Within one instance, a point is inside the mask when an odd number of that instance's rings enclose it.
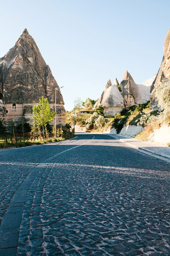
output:
{"label": "clear pale blue sky above the rocks", "polygon": [[62,90],[66,110],[97,99],[125,70],[136,83],[154,76],[170,27],[164,0],[1,1],[0,57],[23,30],[33,36]]}

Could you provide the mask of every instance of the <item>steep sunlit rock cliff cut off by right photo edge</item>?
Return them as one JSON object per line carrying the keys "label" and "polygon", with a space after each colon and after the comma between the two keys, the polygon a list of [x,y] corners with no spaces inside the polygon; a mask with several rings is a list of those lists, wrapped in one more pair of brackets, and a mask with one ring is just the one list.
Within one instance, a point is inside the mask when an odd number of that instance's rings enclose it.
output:
{"label": "steep sunlit rock cliff cut off by right photo edge", "polygon": [[158,75],[156,76],[151,86],[150,109],[158,108],[158,100],[155,97],[155,91],[156,88],[159,87],[162,83],[170,84],[170,28],[164,42],[163,60],[160,65]]}

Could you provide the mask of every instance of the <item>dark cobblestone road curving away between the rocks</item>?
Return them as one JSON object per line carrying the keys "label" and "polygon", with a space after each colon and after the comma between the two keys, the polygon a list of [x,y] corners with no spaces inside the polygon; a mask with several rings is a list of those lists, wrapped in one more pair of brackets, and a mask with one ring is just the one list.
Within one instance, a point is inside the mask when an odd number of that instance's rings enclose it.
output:
{"label": "dark cobblestone road curving away between the rocks", "polygon": [[170,255],[170,165],[113,137],[0,151],[0,255]]}

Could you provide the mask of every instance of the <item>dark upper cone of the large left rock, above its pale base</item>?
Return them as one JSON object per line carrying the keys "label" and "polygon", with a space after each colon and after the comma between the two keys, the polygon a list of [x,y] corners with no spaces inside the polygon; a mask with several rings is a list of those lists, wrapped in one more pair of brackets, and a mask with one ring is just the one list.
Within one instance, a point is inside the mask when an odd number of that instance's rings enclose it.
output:
{"label": "dark upper cone of the large left rock, above its pale base", "polygon": [[[49,103],[55,102],[55,88],[59,87],[26,28],[14,47],[0,59],[2,82],[4,103],[34,103],[42,96],[48,98]],[[60,93],[56,102],[64,104]]]}

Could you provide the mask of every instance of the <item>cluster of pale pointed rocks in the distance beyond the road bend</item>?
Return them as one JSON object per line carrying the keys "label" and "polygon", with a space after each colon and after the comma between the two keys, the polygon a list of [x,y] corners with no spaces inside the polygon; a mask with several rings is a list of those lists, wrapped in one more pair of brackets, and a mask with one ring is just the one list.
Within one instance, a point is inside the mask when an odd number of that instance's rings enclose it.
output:
{"label": "cluster of pale pointed rocks in the distance beyond the road bend", "polygon": [[126,71],[120,84],[121,92],[117,88],[119,82],[116,77],[113,85],[111,81],[108,80],[106,90],[102,92],[93,109],[102,105],[105,108],[105,113],[115,115],[120,112],[122,108],[145,103],[150,99],[150,88],[155,77],[156,75],[142,84],[136,84],[130,73]]}

